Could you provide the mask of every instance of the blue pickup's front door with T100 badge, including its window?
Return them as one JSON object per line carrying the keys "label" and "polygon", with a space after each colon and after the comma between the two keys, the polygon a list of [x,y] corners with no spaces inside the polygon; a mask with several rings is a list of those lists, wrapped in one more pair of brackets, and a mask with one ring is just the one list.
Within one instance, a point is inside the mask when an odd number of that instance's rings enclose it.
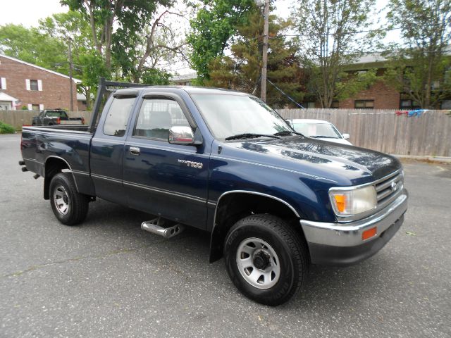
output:
{"label": "blue pickup's front door with T100 badge, including its window", "polygon": [[130,207],[204,229],[209,154],[204,145],[168,143],[169,128],[196,128],[188,114],[175,94],[144,97],[125,141],[123,184]]}

